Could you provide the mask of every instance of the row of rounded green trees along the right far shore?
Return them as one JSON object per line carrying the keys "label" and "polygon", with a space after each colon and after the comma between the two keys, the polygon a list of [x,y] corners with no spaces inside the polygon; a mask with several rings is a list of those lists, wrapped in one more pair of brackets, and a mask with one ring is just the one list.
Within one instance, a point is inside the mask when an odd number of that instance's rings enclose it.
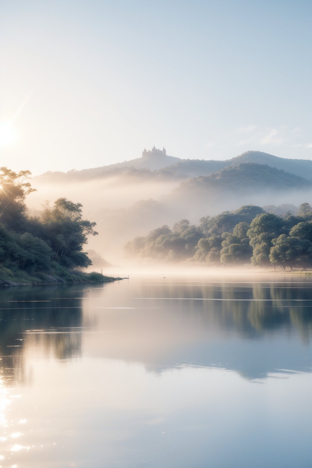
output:
{"label": "row of rounded green trees along the right far shore", "polygon": [[124,247],[128,256],[145,260],[207,263],[209,265],[270,264],[286,268],[312,266],[312,207],[283,216],[245,205],[234,212],[200,219],[198,226],[181,219],[162,226]]}

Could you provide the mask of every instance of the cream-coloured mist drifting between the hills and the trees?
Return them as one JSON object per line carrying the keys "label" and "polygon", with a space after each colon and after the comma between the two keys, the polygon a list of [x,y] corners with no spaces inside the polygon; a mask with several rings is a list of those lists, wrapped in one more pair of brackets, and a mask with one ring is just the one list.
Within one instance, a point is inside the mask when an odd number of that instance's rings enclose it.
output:
{"label": "cream-coloured mist drifting between the hills and the trees", "polygon": [[[128,168],[127,168],[128,169]],[[155,177],[151,171],[138,171],[133,175],[122,172],[118,175],[91,180],[62,176],[34,177],[31,182],[37,189],[28,197],[29,214],[40,215],[46,200],[53,203],[58,197],[66,197],[83,205],[85,218],[97,223],[98,236],[89,238],[85,250],[102,256],[105,262],[133,267],[142,259],[125,254],[124,245],[137,236],[146,236],[150,231],[167,225],[172,227],[180,219],[188,219],[197,225],[199,219],[219,213],[237,210],[243,205],[300,205],[312,198],[311,188],[274,190],[247,186],[244,190],[219,190],[215,187],[199,190],[188,189],[188,179]],[[54,173],[52,173],[54,174]],[[165,179],[165,180],[164,180]],[[197,179],[189,179],[189,181]],[[160,263],[158,259],[151,259]],[[173,259],[171,260],[172,263]],[[103,266],[106,264],[103,261]],[[161,263],[164,260],[161,260]],[[143,261],[146,266],[148,262]],[[94,264],[99,268],[99,264]]]}

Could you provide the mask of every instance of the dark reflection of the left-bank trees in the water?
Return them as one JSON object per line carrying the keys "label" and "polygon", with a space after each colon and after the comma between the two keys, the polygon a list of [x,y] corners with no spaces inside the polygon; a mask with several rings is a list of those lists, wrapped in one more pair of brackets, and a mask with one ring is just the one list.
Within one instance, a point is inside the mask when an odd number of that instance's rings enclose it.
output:
{"label": "dark reflection of the left-bank trees in the water", "polygon": [[[7,380],[26,383],[30,375],[24,362],[23,348],[42,345],[44,354],[71,358],[80,354],[82,309],[80,299],[64,300],[76,294],[77,285],[25,286],[1,291],[0,301],[0,372]],[[50,300],[50,302],[31,302]],[[12,302],[11,302],[12,301]],[[24,302],[22,302],[24,301]],[[27,332],[26,330],[43,330]],[[29,336],[31,335],[31,336]],[[14,376],[14,377],[12,377]]]}

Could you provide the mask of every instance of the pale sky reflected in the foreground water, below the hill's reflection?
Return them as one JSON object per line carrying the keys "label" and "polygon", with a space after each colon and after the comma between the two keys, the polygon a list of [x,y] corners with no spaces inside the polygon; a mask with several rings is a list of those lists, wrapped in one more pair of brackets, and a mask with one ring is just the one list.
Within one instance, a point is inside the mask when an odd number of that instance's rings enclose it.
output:
{"label": "pale sky reflected in the foreground water, below the hill's reflection", "polygon": [[11,453],[15,440],[2,443],[17,467],[187,468],[207,459],[213,467],[308,466],[310,374],[250,382],[221,369],[160,376],[141,364],[87,357],[29,356],[29,364],[34,385],[17,388],[23,395],[10,411],[13,421],[27,420],[18,443],[25,448]]}

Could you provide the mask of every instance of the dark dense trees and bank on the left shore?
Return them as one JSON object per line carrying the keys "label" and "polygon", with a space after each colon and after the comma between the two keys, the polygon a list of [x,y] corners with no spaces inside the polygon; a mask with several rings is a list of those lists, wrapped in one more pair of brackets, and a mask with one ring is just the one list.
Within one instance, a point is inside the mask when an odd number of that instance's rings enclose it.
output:
{"label": "dark dense trees and bank on the left shore", "polygon": [[0,168],[0,285],[112,279],[77,269],[92,265],[83,247],[98,234],[80,203],[58,198],[40,216],[27,214],[25,198],[36,191],[30,175]]}

